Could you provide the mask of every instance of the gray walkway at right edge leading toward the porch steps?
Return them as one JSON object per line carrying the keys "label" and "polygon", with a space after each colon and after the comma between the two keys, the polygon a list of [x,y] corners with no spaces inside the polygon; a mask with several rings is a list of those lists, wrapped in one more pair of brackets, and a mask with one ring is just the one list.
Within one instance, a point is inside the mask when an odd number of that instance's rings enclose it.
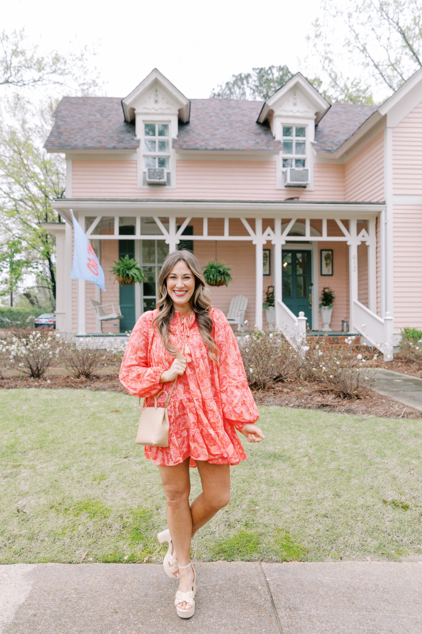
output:
{"label": "gray walkway at right edge leading toward the porch steps", "polygon": [[384,368],[375,370],[375,384],[372,389],[383,396],[390,396],[415,410],[422,411],[422,378],[409,377],[400,372]]}

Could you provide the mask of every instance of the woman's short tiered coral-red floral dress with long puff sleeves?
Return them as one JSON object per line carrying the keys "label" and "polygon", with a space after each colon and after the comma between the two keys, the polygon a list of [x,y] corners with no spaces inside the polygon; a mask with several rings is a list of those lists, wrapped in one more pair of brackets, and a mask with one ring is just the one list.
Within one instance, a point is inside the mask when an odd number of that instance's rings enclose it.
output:
{"label": "woman's short tiered coral-red floral dress with long puff sleeves", "polygon": [[[164,389],[168,394],[173,382],[159,383],[164,370],[174,361],[161,343],[152,325],[158,310],[142,314],[132,330],[120,368],[120,382],[133,396],[144,398],[144,407],[153,406],[153,394]],[[195,313],[183,318],[176,312],[170,323],[170,344],[182,350],[187,333],[184,356],[185,373],[178,377],[168,406],[170,420],[169,446],[145,447],[146,458],[157,465],[177,465],[190,456],[216,465],[237,465],[246,460],[236,429],[254,423],[259,417],[256,403],[247,384],[242,357],[232,328],[225,315],[211,309],[213,339],[220,351],[220,363],[208,356],[201,339]],[[166,394],[159,396],[164,406]]]}

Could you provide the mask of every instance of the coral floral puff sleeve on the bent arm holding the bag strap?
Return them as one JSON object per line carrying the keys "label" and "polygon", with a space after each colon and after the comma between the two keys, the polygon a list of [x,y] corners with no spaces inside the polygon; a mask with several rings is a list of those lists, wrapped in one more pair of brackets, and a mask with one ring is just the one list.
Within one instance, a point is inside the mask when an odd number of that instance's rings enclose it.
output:
{"label": "coral floral puff sleeve on the bent arm holding the bag strap", "polygon": [[152,339],[152,311],[143,313],[130,335],[120,366],[120,383],[129,394],[147,398],[162,389],[161,374],[164,368],[149,367],[148,351]]}

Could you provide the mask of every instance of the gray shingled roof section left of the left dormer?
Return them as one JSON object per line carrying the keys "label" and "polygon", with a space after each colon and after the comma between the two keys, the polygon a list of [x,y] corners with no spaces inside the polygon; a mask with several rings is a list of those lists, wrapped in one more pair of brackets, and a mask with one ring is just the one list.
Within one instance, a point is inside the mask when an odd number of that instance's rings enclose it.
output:
{"label": "gray shingled roof section left of the left dormer", "polygon": [[126,123],[118,97],[63,97],[47,150],[136,150],[135,124]]}

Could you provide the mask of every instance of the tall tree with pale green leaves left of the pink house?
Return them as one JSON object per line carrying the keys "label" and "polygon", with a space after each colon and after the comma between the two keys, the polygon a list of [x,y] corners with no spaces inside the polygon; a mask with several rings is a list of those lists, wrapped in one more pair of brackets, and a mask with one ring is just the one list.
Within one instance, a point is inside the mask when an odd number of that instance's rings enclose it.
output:
{"label": "tall tree with pale green leaves left of the pink house", "polygon": [[10,112],[13,123],[0,125],[0,219],[7,240],[20,241],[30,252],[29,268],[49,288],[54,304],[54,238],[40,224],[59,220],[51,201],[65,195],[65,162],[42,149],[52,108],[44,109],[41,119],[19,98]]}

